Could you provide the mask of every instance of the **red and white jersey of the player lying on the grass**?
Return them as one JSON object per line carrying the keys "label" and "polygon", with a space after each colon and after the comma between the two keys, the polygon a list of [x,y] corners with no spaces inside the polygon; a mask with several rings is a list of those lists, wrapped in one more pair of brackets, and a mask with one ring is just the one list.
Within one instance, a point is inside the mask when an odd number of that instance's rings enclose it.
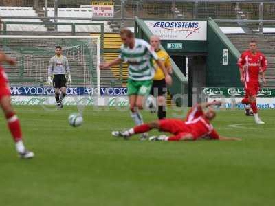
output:
{"label": "red and white jersey of the player lying on the grass", "polygon": [[189,111],[184,124],[190,129],[195,139],[200,137],[210,137],[210,139],[219,139],[219,135],[214,130],[212,124],[204,116],[201,106],[193,106]]}

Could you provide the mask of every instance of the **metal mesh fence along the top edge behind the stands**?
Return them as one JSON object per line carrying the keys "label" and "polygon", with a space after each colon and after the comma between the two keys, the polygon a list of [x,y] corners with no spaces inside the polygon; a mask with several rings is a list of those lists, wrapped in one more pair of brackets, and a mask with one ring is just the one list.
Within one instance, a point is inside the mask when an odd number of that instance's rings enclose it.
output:
{"label": "metal mesh fence along the top edge behind the stands", "polygon": [[[91,0],[0,0],[0,6],[78,8]],[[111,0],[110,0],[111,1]],[[275,19],[275,1],[259,0],[115,0],[115,17],[134,18],[208,18]]]}

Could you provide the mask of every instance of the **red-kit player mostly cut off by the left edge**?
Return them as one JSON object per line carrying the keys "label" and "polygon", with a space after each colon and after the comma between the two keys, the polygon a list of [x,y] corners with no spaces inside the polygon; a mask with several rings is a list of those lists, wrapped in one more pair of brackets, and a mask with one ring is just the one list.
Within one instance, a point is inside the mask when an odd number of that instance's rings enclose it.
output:
{"label": "red-kit player mostly cut off by the left edge", "polygon": [[[0,53],[0,63],[7,62],[10,65],[15,65],[16,62],[14,59],[9,58],[3,53]],[[15,148],[19,153],[19,157],[23,159],[30,159],[34,157],[34,153],[28,151],[22,140],[21,126],[19,123],[19,119],[12,108],[12,104],[10,102],[10,86],[8,83],[8,77],[0,65],[0,106],[3,109],[5,114],[5,118],[8,122],[8,128],[10,129],[10,133],[12,133],[12,137],[15,142]]]}

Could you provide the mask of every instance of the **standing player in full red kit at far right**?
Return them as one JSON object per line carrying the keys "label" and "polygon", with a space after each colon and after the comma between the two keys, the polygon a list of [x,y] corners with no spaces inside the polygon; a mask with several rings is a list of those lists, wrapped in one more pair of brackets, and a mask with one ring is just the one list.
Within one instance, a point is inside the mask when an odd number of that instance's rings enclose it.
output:
{"label": "standing player in full red kit at far right", "polygon": [[258,115],[256,97],[260,89],[259,75],[265,80],[265,70],[267,69],[267,60],[265,56],[257,50],[256,41],[250,41],[250,49],[243,52],[238,60],[238,66],[241,76],[241,82],[245,87],[245,98],[241,101],[243,104],[250,104],[256,124],[265,124]]}

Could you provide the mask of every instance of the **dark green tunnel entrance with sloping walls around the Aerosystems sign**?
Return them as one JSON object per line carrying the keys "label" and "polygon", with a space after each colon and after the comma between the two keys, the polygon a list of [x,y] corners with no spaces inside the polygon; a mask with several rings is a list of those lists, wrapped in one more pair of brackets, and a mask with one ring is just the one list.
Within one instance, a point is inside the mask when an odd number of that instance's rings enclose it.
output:
{"label": "dark green tunnel entrance with sloping walls around the Aerosystems sign", "polygon": [[[168,20],[186,21],[186,19]],[[137,38],[148,41],[153,33],[145,21],[148,19],[135,18],[135,31],[137,31]],[[173,86],[170,87],[170,93],[172,95],[188,94],[188,106],[199,102],[199,94],[204,87],[242,87],[239,82],[239,69],[236,67],[240,53],[236,47],[213,19],[192,19],[191,21],[206,21],[206,40],[162,40],[162,48],[173,59],[174,81]]]}

